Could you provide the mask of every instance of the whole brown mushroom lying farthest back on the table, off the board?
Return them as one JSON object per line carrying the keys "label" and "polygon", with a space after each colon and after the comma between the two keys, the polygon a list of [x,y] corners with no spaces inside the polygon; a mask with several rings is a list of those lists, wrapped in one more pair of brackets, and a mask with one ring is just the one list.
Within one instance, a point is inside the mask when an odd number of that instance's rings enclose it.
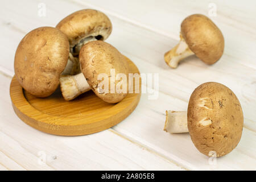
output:
{"label": "whole brown mushroom lying farthest back on the table, off the board", "polygon": [[185,57],[196,55],[206,64],[216,63],[224,52],[224,37],[207,16],[190,15],[181,23],[180,42],[164,55],[171,68]]}

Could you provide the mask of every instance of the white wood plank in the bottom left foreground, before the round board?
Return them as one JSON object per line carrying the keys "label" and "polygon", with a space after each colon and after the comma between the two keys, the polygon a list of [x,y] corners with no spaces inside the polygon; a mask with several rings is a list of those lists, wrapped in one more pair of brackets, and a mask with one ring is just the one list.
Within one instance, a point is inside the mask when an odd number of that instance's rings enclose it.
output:
{"label": "white wood plank in the bottom left foreground, before the round board", "polygon": [[0,164],[8,169],[184,169],[112,129],[82,137],[60,137],[32,129],[13,111],[10,77],[0,74],[0,80]]}

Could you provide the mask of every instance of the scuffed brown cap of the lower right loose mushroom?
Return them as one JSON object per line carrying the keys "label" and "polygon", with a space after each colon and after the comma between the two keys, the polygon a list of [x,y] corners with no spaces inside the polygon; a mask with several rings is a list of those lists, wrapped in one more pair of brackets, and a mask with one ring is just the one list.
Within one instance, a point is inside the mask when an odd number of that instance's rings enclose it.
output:
{"label": "scuffed brown cap of the lower right loose mushroom", "polygon": [[206,82],[191,94],[188,131],[201,153],[210,156],[214,151],[217,157],[228,154],[240,141],[242,129],[242,108],[228,87]]}

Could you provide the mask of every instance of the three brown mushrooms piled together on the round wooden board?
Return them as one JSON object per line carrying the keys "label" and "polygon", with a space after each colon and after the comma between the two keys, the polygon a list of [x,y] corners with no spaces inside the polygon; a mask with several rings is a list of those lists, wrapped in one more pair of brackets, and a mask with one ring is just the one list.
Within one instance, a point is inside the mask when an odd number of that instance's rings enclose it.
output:
{"label": "three brown mushrooms piled together on the round wooden board", "polygon": [[56,27],[36,28],[16,49],[16,79],[36,97],[48,97],[60,85],[67,101],[92,89],[103,101],[117,103],[127,92],[104,92],[97,79],[101,73],[110,77],[110,69],[129,74],[126,57],[104,42],[111,32],[108,16],[90,9],[68,15]]}

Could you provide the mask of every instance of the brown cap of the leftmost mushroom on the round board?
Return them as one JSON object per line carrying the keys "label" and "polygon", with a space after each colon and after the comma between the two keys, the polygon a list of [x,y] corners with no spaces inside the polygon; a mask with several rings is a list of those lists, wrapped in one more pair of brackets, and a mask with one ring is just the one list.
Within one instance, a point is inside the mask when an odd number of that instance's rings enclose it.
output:
{"label": "brown cap of the leftmost mushroom on the round board", "polygon": [[47,97],[57,89],[68,55],[69,43],[63,32],[53,27],[36,28],[16,49],[16,79],[32,95]]}

